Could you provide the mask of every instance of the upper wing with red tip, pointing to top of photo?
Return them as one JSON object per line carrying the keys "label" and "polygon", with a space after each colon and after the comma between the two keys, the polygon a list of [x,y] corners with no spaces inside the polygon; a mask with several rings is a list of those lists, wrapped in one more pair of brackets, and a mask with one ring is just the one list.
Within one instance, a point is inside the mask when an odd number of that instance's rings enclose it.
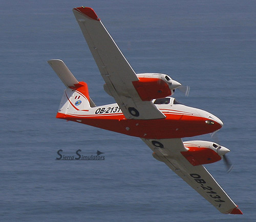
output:
{"label": "upper wing with red tip, pointing to top of photo", "polygon": [[93,9],[73,9],[108,92],[115,98],[126,118],[158,119],[166,116],[151,102],[142,101],[132,82],[135,71],[103,26]]}

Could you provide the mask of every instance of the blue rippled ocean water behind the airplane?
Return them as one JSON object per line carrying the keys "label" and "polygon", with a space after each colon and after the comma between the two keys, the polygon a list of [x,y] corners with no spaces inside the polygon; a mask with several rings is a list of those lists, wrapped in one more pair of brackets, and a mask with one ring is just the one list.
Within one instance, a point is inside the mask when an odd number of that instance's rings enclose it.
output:
{"label": "blue rippled ocean water behind the airplane", "polygon": [[[243,215],[221,214],[139,138],[55,118],[65,86],[50,59],[87,82],[96,105],[114,103],[72,12],[82,5],[137,73],[189,85],[189,97],[174,97],[223,120],[233,170],[206,168]],[[255,221],[255,12],[250,0],[1,1],[0,220]],[[105,159],[57,161],[60,149]]]}

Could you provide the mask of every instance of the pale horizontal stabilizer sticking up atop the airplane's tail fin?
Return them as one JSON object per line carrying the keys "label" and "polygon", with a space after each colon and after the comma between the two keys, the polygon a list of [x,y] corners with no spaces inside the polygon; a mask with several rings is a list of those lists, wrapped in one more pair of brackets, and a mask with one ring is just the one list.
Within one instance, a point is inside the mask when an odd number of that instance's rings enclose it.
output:
{"label": "pale horizontal stabilizer sticking up atop the airplane's tail fin", "polygon": [[77,79],[73,76],[69,68],[65,65],[62,60],[59,59],[51,59],[48,61],[52,69],[56,72],[59,79],[64,83],[68,88],[70,86],[75,86],[78,84]]}

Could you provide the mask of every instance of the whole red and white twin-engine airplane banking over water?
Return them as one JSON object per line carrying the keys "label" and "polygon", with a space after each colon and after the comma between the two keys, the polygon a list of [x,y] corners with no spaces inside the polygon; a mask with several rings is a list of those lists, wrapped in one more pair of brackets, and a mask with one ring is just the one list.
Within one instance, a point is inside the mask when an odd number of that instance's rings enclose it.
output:
{"label": "whole red and white twin-engine airplane banking over water", "polygon": [[96,106],[88,86],[78,82],[61,60],[49,60],[67,89],[56,118],[140,137],[185,182],[221,213],[243,214],[203,164],[221,160],[229,150],[215,142],[186,141],[219,130],[223,122],[204,110],[180,104],[173,95],[181,84],[162,73],[137,74],[93,9],[73,9],[76,20],[116,104]]}

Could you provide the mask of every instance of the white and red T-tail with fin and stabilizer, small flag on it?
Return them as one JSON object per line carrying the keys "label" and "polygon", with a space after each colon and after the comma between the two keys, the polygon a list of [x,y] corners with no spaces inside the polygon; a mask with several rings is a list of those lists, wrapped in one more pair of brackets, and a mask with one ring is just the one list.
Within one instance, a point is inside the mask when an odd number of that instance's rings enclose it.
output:
{"label": "white and red T-tail with fin and stabilizer, small flag on it", "polygon": [[60,102],[57,118],[65,118],[68,113],[88,111],[90,107],[95,107],[89,96],[87,84],[78,82],[63,61],[52,59],[48,63],[67,87]]}

